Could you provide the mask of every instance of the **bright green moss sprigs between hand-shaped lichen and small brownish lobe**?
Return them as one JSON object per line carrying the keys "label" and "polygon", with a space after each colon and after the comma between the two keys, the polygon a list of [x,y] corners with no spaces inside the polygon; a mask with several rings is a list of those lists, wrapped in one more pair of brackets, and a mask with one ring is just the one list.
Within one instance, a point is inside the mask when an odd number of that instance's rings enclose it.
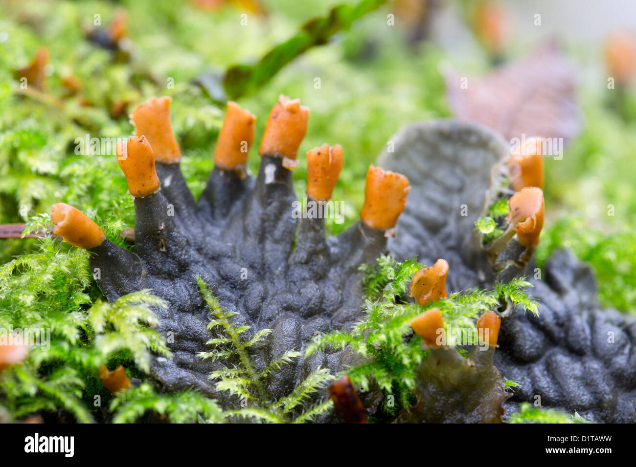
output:
{"label": "bright green moss sprigs between hand-shaped lichen and small brownish lobe", "polygon": [[[364,318],[351,330],[338,330],[318,337],[307,346],[306,355],[326,348],[350,346],[366,357],[366,362],[344,370],[343,374],[364,391],[368,391],[373,383],[385,393],[394,395],[394,407],[382,406],[389,414],[395,414],[400,407],[409,407],[413,402],[411,389],[415,388],[415,370],[426,353],[421,348],[422,338],[412,334],[410,321],[420,313],[439,308],[446,335],[451,339],[448,345],[478,344],[471,340],[475,335],[476,318],[508,299],[520,311],[538,314],[536,302],[523,290],[530,284],[523,279],[497,283],[494,290],[464,290],[451,294],[448,299],[420,306],[408,302],[406,293],[413,274],[425,267],[424,264],[415,259],[400,263],[388,256],[380,257],[377,263],[377,266],[361,267],[367,294]],[[459,335],[466,336],[467,341],[452,341]],[[409,338],[405,339],[405,336]]]}

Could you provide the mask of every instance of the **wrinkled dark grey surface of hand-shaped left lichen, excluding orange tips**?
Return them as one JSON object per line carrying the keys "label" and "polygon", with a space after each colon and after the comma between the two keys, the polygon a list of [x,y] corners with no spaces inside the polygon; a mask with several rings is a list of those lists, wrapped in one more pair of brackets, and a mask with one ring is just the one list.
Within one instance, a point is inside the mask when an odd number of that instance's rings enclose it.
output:
{"label": "wrinkled dark grey surface of hand-shaped left lichen, excluding orange tips", "polygon": [[[322,219],[303,219],[296,239],[292,173],[278,157],[263,157],[255,178],[215,169],[197,205],[178,165],[157,163],[157,172],[162,190],[135,198],[136,254],[113,261],[123,250],[104,243],[93,250],[91,262],[107,271],[99,285],[109,300],[151,288],[169,302],[167,309],[157,310],[158,330],[169,336],[174,358],[156,358],[151,368],[165,389],[194,387],[226,397],[208,379],[222,363],[197,356],[209,351],[205,343],[212,337],[197,277],[226,313],[238,313],[235,325],[251,325],[252,335],[272,329],[267,344],[255,349],[261,369],[288,350],[302,351],[315,335],[359,317],[358,267],[385,250],[384,231],[357,222],[328,242]],[[317,353],[284,367],[268,382],[270,396],[286,395],[319,367],[342,370],[354,363],[352,357],[350,351]]]}

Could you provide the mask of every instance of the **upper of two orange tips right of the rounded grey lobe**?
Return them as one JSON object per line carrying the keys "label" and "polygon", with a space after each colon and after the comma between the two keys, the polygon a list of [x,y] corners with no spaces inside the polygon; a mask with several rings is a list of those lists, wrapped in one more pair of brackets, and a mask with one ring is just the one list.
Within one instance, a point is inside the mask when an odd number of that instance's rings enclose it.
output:
{"label": "upper of two orange tips right of the rounded grey lobe", "polygon": [[543,142],[540,138],[530,138],[525,146],[519,146],[508,159],[510,185],[515,191],[536,186],[543,189]]}

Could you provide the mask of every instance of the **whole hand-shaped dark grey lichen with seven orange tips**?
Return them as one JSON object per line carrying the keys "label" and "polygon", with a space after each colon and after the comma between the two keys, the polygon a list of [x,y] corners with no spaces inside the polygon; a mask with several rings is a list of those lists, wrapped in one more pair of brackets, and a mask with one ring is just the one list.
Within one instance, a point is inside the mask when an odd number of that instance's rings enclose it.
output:
{"label": "whole hand-shaped dark grey lichen with seven orange tips", "polygon": [[[236,313],[235,324],[251,326],[246,334],[272,329],[266,344],[251,348],[258,365],[265,367],[291,349],[303,351],[315,335],[360,318],[359,266],[385,252],[410,186],[403,175],[371,166],[361,219],[326,239],[324,215],[334,211],[329,200],[342,169],[342,148],[324,144],[307,153],[308,201],[300,208],[292,170],[309,110],[281,96],[263,133],[255,178],[245,165],[255,118],[228,103],[214,170],[195,201],[179,168],[169,107],[168,97],[137,106],[135,136],[118,147],[134,196],[135,252],[111,243],[96,224],[63,203],[53,206],[53,231],[92,252],[90,266],[100,269],[97,281],[109,301],[144,288],[167,301],[168,308],[156,313],[158,330],[170,336],[173,358],[154,358],[151,365],[163,388],[193,387],[235,406],[208,378],[233,362],[197,357],[209,351],[206,342],[213,336],[196,278],[223,309]],[[350,350],[314,353],[270,377],[266,390],[275,400],[310,372],[321,367],[338,372],[356,358]]]}

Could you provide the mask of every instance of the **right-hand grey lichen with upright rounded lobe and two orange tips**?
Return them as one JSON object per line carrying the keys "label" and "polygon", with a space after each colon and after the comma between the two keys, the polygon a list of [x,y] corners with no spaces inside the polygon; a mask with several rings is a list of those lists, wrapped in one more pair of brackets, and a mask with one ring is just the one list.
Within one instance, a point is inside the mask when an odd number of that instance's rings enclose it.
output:
{"label": "right-hand grey lichen with upright rounded lobe and two orange tips", "polygon": [[[532,402],[576,411],[591,421],[635,422],[636,320],[600,306],[590,267],[569,252],[556,252],[541,269],[530,257],[543,226],[538,142],[527,139],[517,153],[492,130],[452,119],[405,125],[391,141],[391,151],[385,150],[378,164],[408,173],[413,189],[389,252],[399,261],[417,255],[425,264],[444,258],[453,291],[489,288],[513,276],[527,276],[534,286],[527,291],[537,299],[540,316],[514,309],[501,313],[494,365],[520,384],[504,405],[506,414]],[[497,199],[506,198],[510,213],[501,226],[504,234],[484,244],[475,222]],[[453,372],[459,367],[449,365]],[[425,384],[436,379],[431,375]],[[463,374],[456,381],[464,384]],[[455,407],[447,419],[457,420],[455,398],[447,393],[445,402]]]}

